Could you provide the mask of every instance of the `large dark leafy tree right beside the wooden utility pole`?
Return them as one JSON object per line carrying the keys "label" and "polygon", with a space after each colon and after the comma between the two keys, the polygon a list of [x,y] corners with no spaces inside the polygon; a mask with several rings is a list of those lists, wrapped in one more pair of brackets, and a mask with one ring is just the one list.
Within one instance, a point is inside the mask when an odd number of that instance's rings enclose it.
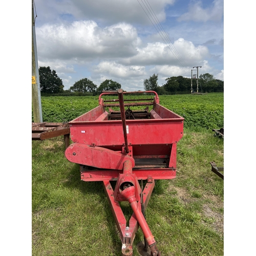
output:
{"label": "large dark leafy tree right beside the wooden utility pole", "polygon": [[51,70],[50,67],[39,68],[39,82],[42,93],[62,93],[63,83],[58,77],[55,70]]}

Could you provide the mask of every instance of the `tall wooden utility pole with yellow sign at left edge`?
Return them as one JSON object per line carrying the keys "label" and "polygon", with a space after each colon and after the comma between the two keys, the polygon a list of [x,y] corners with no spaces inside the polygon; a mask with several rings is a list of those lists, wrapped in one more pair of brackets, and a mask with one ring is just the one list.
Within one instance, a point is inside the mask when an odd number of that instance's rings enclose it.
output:
{"label": "tall wooden utility pole with yellow sign at left edge", "polygon": [[35,38],[34,0],[32,0],[32,106],[34,122],[42,122],[41,92]]}

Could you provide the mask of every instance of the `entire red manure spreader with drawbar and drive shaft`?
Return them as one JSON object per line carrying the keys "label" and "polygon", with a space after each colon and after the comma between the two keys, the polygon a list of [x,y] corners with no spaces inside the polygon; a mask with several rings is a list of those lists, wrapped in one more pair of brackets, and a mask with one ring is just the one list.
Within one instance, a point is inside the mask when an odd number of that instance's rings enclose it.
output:
{"label": "entire red manure spreader with drawbar and drive shaft", "polygon": [[[141,98],[125,99],[126,95]],[[134,106],[141,110],[132,110]],[[119,230],[122,255],[133,255],[139,227],[144,234],[140,254],[161,255],[144,211],[155,180],[176,177],[176,149],[183,136],[183,121],[159,104],[156,92],[119,89],[102,92],[99,106],[69,122],[73,143],[66,149],[66,158],[80,165],[82,181],[102,181]],[[111,181],[116,181],[114,188]],[[129,202],[133,209],[129,222],[121,201]]]}

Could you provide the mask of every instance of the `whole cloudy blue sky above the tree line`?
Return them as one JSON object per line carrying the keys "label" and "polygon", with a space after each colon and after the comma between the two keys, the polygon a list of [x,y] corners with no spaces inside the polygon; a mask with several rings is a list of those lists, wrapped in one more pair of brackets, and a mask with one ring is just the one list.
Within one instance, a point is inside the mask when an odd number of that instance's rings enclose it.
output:
{"label": "whole cloudy blue sky above the tree line", "polygon": [[[223,0],[34,0],[38,67],[50,67],[65,90],[105,79],[144,90],[158,74],[209,73],[224,80]],[[192,71],[191,71],[192,70]]]}

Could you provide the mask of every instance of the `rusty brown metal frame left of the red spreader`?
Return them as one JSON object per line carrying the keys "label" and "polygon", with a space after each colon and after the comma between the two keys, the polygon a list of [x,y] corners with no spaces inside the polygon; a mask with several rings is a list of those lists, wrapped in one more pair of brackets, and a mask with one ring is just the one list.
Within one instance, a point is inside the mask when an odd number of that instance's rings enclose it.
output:
{"label": "rusty brown metal frame left of the red spreader", "polygon": [[32,122],[32,140],[46,140],[62,135],[64,135],[64,141],[67,148],[70,139],[69,123]]}

